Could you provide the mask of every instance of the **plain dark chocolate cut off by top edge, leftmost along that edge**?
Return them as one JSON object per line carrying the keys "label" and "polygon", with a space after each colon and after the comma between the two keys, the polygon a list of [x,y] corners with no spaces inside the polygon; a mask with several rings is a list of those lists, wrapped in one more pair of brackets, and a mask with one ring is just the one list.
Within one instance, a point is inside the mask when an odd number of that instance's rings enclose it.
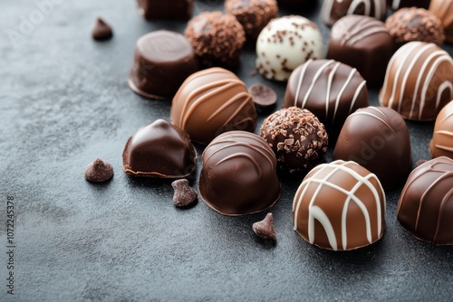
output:
{"label": "plain dark chocolate cut off by top edge, leftmost along that edge", "polygon": [[139,14],[146,20],[188,20],[192,15],[193,0],[137,0]]}

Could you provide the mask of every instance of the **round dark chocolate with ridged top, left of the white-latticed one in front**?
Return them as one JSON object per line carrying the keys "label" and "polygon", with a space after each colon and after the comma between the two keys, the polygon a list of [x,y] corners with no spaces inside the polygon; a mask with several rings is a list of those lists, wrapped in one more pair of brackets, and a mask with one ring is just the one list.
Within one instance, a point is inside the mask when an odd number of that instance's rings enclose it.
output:
{"label": "round dark chocolate with ridged top, left of the white-latticed one in front", "polygon": [[274,152],[253,133],[229,131],[216,137],[203,152],[202,162],[198,192],[221,214],[260,212],[280,196]]}

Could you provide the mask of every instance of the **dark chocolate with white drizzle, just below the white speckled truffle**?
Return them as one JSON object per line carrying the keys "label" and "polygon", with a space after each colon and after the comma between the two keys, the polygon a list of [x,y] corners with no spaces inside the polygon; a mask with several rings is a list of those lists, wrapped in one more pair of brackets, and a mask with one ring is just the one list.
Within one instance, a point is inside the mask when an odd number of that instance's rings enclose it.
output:
{"label": "dark chocolate with white drizzle, just below the white speckled truffle", "polygon": [[368,105],[366,81],[359,71],[339,61],[309,60],[291,74],[283,107],[312,111],[330,137],[336,137],[344,120]]}

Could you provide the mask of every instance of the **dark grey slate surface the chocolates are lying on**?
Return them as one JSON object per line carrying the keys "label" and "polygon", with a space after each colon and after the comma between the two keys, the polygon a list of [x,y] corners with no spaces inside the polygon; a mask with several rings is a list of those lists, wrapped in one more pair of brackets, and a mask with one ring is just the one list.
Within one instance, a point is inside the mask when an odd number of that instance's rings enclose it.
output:
{"label": "dark grey slate surface the chocolates are lying on", "polygon": [[[6,294],[5,223],[0,228],[1,301],[453,298],[453,249],[417,241],[400,227],[400,188],[387,192],[381,241],[332,252],[292,230],[292,199],[302,176],[282,178],[282,198],[271,210],[273,245],[251,228],[265,212],[225,217],[202,202],[180,210],[169,181],[124,175],[127,138],[157,118],[169,119],[170,108],[169,101],[142,99],[127,87],[134,44],[151,30],[182,31],[185,24],[146,23],[132,0],[53,0],[39,14],[41,2],[3,0],[0,6],[0,221],[7,195],[14,196],[16,215],[14,297]],[[197,1],[196,12],[222,4]],[[293,13],[318,22],[318,10]],[[98,15],[113,25],[110,42],[91,39]],[[327,42],[328,29],[321,29]],[[236,72],[247,85],[273,85],[281,105],[284,85],[250,76],[254,61],[246,51]],[[376,91],[371,104],[377,105]],[[414,162],[428,158],[433,124],[409,126]],[[115,168],[108,184],[83,179],[84,166],[96,157]],[[194,187],[199,168],[198,160]]]}

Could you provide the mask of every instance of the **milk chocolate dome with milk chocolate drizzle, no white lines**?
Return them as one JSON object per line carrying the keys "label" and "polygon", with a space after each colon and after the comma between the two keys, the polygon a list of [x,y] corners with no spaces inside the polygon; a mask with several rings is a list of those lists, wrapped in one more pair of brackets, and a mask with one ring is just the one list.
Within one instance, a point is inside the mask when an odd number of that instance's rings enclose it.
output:
{"label": "milk chocolate dome with milk chocolate drizzle, no white lines", "polygon": [[214,67],[182,83],[171,104],[174,125],[201,144],[230,130],[253,131],[256,111],[246,84],[233,72]]}

